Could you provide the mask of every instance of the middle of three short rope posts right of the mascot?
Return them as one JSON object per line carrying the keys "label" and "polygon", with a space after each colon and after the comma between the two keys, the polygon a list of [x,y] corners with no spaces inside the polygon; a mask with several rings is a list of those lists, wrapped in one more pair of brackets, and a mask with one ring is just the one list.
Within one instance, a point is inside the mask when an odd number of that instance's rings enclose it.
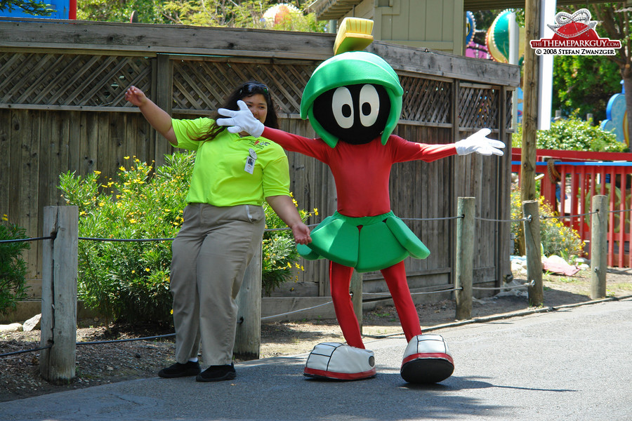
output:
{"label": "middle of three short rope posts right of the mascot", "polygon": [[544,284],[542,283],[542,258],[540,248],[540,215],[538,201],[522,203],[522,214],[529,220],[524,222],[525,246],[527,248],[527,281],[529,286],[529,305],[539,307],[544,304]]}

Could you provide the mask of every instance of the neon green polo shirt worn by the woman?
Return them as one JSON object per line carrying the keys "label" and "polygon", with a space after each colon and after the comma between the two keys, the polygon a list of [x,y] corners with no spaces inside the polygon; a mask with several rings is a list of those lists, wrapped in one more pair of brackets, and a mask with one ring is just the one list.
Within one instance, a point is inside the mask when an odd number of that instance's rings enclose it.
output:
{"label": "neon green polo shirt worn by the woman", "polygon": [[[213,120],[202,117],[171,121],[177,146],[197,152],[187,203],[261,206],[268,196],[289,196],[287,156],[272,140],[240,138],[225,130],[213,140],[199,142],[194,139],[206,133]],[[253,156],[256,159],[250,173],[246,162]]]}

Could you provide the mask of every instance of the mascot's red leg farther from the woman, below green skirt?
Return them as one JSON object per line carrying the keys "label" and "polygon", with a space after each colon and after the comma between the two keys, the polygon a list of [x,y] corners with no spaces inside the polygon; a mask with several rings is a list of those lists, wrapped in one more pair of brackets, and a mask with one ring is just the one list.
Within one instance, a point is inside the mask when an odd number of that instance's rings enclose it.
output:
{"label": "mascot's red leg farther from the woman, below green skirt", "polygon": [[390,295],[393,297],[406,340],[410,342],[416,335],[421,335],[421,326],[419,325],[419,314],[417,314],[415,303],[408,288],[404,262],[382,269],[380,272],[386,280]]}

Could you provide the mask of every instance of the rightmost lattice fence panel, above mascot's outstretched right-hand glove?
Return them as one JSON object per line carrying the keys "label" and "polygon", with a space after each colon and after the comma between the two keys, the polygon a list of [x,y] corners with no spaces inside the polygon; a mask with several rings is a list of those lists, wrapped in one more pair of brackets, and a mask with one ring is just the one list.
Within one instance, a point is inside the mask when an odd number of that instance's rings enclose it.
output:
{"label": "rightmost lattice fence panel, above mascot's outstretched right-hand glove", "polygon": [[500,90],[461,86],[459,116],[461,128],[497,128]]}

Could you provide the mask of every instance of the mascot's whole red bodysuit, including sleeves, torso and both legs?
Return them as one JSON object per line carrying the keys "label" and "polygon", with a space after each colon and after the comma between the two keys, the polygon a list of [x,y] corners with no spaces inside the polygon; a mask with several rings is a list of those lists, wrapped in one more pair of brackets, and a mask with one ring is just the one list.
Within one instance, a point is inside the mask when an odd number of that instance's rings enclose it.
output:
{"label": "mascot's whole red bodysuit, including sleeves, torso and both legs", "polygon": [[[363,145],[338,141],[330,147],[320,139],[286,133],[266,127],[263,137],[268,138],[291,152],[312,156],[331,168],[338,193],[338,213],[353,218],[381,215],[390,211],[388,181],[393,163],[421,159],[430,162],[456,154],[454,144],[426,145],[409,142],[397,135],[390,135],[386,145],[376,138]],[[410,341],[421,335],[419,316],[408,288],[404,262],[381,269],[388,290],[393,297],[402,330]],[[353,311],[349,285],[353,267],[331,262],[329,279],[331,298],[336,318],[347,344],[364,348],[360,325]]]}

